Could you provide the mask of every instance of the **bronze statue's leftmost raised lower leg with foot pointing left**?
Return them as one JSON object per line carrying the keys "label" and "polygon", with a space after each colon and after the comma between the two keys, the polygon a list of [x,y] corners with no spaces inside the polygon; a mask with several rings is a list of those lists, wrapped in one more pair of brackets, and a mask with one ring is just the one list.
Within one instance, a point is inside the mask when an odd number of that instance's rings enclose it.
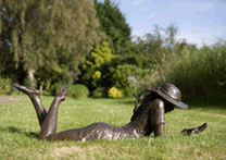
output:
{"label": "bronze statue's leftmost raised lower leg with foot pointing left", "polygon": [[42,123],[43,123],[43,120],[47,115],[47,111],[43,108],[43,104],[41,102],[40,91],[37,90],[37,89],[28,89],[24,86],[18,85],[17,83],[14,83],[14,84],[11,84],[11,85],[13,87],[15,87],[16,89],[21,90],[22,93],[26,94],[30,98],[30,100],[32,100],[32,102],[35,107],[36,114],[38,116],[39,124],[41,126]]}

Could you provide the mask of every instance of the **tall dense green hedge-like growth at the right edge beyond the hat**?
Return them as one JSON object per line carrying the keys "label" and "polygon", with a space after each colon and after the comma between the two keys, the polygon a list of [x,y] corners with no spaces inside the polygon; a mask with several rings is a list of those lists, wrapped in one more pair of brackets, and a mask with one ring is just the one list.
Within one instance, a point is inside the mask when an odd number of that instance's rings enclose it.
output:
{"label": "tall dense green hedge-like growth at the right edge beyond the hat", "polygon": [[196,50],[187,46],[175,58],[165,76],[185,95],[226,96],[226,47]]}

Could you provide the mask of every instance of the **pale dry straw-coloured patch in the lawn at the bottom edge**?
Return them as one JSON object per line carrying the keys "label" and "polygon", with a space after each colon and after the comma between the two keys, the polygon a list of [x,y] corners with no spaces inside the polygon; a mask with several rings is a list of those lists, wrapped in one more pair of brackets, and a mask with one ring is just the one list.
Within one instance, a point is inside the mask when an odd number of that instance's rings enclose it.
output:
{"label": "pale dry straw-coloured patch in the lawn at the bottom edge", "polygon": [[[78,147],[78,146],[71,146],[71,147],[59,147],[54,148],[52,151],[50,151],[50,156],[54,158],[62,158],[65,156],[77,156],[79,159],[87,159],[93,153],[100,153],[101,150],[103,150],[100,146],[88,146],[88,147]],[[87,157],[88,156],[88,157]]]}

